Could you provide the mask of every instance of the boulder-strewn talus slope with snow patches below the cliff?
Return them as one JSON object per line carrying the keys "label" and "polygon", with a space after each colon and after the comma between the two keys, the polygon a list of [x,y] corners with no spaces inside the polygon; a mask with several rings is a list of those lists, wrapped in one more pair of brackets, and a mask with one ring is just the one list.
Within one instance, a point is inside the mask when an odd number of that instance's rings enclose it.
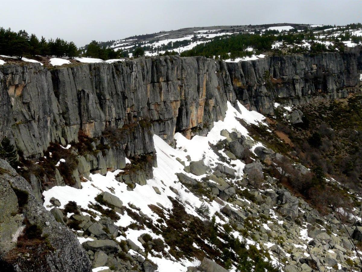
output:
{"label": "boulder-strewn talus slope with snow patches below the cliff", "polygon": [[[188,140],[176,133],[173,149],[154,136],[157,167],[147,184],[131,188],[119,182],[117,174],[122,170],[106,176],[90,174],[81,189],[56,186],[45,191],[44,205],[58,222],[73,229],[93,268],[224,271],[205,268],[207,262],[214,265],[205,257],[231,271],[245,271],[237,270],[238,256],[224,257],[222,235],[227,232],[246,248],[255,246],[264,252],[262,260],[275,269],[358,271],[361,264],[349,234],[358,243],[362,238],[359,225],[344,226],[337,211],[321,215],[271,177],[270,165],[282,161],[284,155],[253,140],[239,120],[267,126],[262,115],[246,109],[239,113],[229,104],[225,120],[216,122],[206,137]],[[294,168],[302,174],[310,172],[300,164]],[[350,202],[360,199],[350,194]],[[199,224],[207,225],[215,215],[216,238],[200,232],[189,245],[192,248],[175,246],[166,231],[174,228],[169,219],[175,213],[175,202],[189,221],[197,218]],[[353,213],[359,215],[360,207],[354,207]],[[342,214],[348,222],[360,220]],[[186,225],[183,228],[190,228]],[[199,265],[198,259],[203,260],[200,267],[192,268]],[[252,263],[256,268],[256,262]]]}

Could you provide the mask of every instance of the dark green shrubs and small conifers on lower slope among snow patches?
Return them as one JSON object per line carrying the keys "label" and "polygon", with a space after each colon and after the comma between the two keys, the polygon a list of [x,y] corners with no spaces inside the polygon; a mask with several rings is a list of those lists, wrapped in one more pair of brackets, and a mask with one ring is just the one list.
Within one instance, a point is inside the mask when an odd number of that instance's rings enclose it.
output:
{"label": "dark green shrubs and small conifers on lower slope among snow patches", "polygon": [[[269,261],[264,260],[265,257],[269,257],[267,252],[260,251],[252,245],[247,246],[245,241],[235,238],[228,224],[220,227],[215,223],[215,217],[211,221],[202,221],[186,213],[183,203],[173,198],[170,200],[173,208],[168,219],[162,210],[156,209],[157,207],[153,207],[153,211],[167,224],[167,226],[160,225],[160,234],[171,247],[169,253],[176,259],[197,257],[202,260],[208,256],[227,269],[231,264],[235,264],[237,271],[240,272],[251,271],[254,266],[256,272],[278,271]],[[205,240],[208,242],[205,243]],[[193,243],[199,248],[193,247]]]}

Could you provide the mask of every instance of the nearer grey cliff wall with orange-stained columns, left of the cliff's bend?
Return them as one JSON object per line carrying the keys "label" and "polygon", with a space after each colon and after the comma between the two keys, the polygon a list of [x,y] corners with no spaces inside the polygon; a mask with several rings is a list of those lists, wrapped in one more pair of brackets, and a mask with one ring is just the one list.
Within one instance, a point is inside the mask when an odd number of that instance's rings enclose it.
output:
{"label": "nearer grey cliff wall with orange-stained columns, left of the cliff's bend", "polygon": [[[107,127],[145,121],[171,143],[222,120],[233,90],[218,63],[206,58],[142,58],[47,70],[33,64],[0,70],[1,136],[11,133],[24,156],[51,141],[100,137]],[[134,147],[129,155],[150,152]],[[152,147],[151,147],[152,148]],[[145,150],[144,150],[145,149]]]}

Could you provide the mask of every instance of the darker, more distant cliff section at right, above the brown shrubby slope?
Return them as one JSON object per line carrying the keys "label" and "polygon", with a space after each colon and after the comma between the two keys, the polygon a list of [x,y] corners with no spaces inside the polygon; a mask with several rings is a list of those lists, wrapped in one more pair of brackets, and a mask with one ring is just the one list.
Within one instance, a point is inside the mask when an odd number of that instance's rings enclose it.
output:
{"label": "darker, more distant cliff section at right, above the brown shrubby slope", "polygon": [[273,56],[227,63],[227,69],[245,107],[273,114],[275,101],[298,105],[318,96],[347,97],[358,85],[361,55],[353,48],[345,53]]}

